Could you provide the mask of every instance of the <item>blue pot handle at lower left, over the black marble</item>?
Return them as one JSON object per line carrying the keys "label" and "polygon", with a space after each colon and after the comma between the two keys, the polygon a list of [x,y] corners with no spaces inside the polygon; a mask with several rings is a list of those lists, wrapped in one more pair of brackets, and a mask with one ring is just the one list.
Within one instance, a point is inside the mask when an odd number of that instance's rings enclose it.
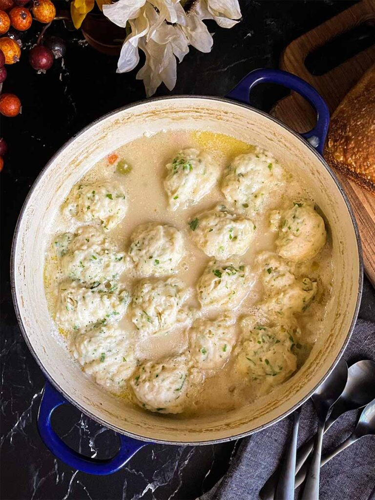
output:
{"label": "blue pot handle at lower left, over the black marble", "polygon": [[112,474],[123,467],[138,449],[147,444],[144,441],[138,441],[118,434],[120,447],[113,458],[100,460],[77,453],[62,441],[51,426],[53,411],[61,404],[67,403],[68,401],[46,381],[39,406],[37,427],[40,437],[49,451],[70,467],[87,472],[88,474]]}

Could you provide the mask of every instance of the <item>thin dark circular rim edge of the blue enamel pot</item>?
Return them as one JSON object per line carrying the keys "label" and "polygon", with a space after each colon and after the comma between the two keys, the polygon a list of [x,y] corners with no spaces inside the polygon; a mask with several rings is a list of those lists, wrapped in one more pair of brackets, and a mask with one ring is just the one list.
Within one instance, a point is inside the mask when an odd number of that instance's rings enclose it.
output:
{"label": "thin dark circular rim edge of the blue enamel pot", "polygon": [[[229,437],[222,437],[220,439],[207,439],[207,440],[202,440],[202,441],[167,441],[167,440],[163,440],[163,439],[150,439],[148,437],[144,437],[144,436],[141,436],[141,435],[138,435],[138,434],[134,434],[132,432],[128,432],[124,429],[121,429],[119,427],[116,427],[115,425],[112,425],[112,424],[109,424],[108,422],[106,422],[105,420],[101,419],[100,417],[96,416],[96,415],[93,415],[90,411],[87,411],[85,408],[83,408],[80,404],[78,404],[73,398],[71,398],[58,384],[57,382],[55,382],[55,380],[50,376],[50,374],[47,372],[47,370],[44,368],[43,364],[41,363],[40,359],[38,358],[38,356],[36,355],[36,352],[34,351],[29,339],[28,339],[28,336],[27,336],[27,333],[26,333],[26,328],[24,327],[23,325],[23,322],[22,322],[22,319],[21,319],[21,315],[20,315],[20,312],[19,312],[19,307],[18,307],[18,302],[17,302],[17,297],[16,297],[16,291],[15,291],[15,283],[14,283],[14,274],[15,274],[15,270],[14,270],[14,263],[15,263],[15,247],[16,247],[16,243],[17,243],[17,240],[18,240],[18,234],[19,234],[19,226],[20,226],[20,223],[21,223],[21,220],[22,220],[22,217],[23,217],[23,213],[25,211],[25,208],[27,206],[27,203],[28,203],[28,200],[29,198],[31,197],[35,187],[37,186],[37,184],[39,183],[39,180],[41,179],[41,177],[44,175],[44,172],[49,168],[50,164],[54,161],[54,159],[66,148],[70,145],[70,143],[75,140],[79,135],[81,135],[82,133],[84,133],[86,130],[88,130],[89,128],[91,128],[92,126],[96,125],[97,123],[99,123],[100,121],[102,121],[103,119],[106,119],[108,118],[109,116],[112,116],[112,115],[115,115],[117,114],[118,112],[120,111],[124,111],[125,109],[129,109],[131,107],[134,107],[134,106],[137,106],[139,104],[145,104],[146,102],[156,102],[156,101],[159,101],[159,100],[173,100],[173,99],[207,99],[207,100],[216,100],[216,101],[221,101],[221,102],[227,102],[229,104],[234,104],[234,105],[237,105],[237,106],[240,106],[240,107],[244,107],[246,109],[250,109],[251,111],[254,111],[262,116],[264,116],[265,118],[268,118],[270,119],[271,121],[277,123],[278,125],[282,126],[283,128],[285,128],[288,132],[290,132],[291,134],[293,134],[296,138],[298,138],[299,140],[301,140],[304,145],[310,150],[313,152],[313,154],[317,157],[317,159],[319,160],[319,162],[324,166],[324,168],[328,171],[329,175],[331,176],[333,182],[336,184],[338,190],[340,191],[340,194],[341,196],[343,197],[344,201],[345,201],[345,204],[346,204],[346,208],[349,212],[349,215],[350,215],[350,218],[351,218],[351,222],[353,224],[353,228],[354,228],[354,232],[355,232],[355,238],[356,238],[356,247],[357,247],[357,251],[358,251],[358,260],[359,260],[359,275],[358,275],[358,291],[357,291],[357,298],[356,298],[356,303],[355,303],[355,309],[354,309],[354,314],[353,314],[353,317],[352,317],[352,320],[351,320],[351,323],[350,323],[350,327],[348,329],[348,332],[347,332],[347,335],[346,335],[346,338],[341,346],[341,349],[340,351],[338,352],[335,360],[333,361],[333,363],[331,364],[331,366],[329,367],[329,369],[327,370],[327,372],[321,377],[320,381],[300,400],[298,401],[296,404],[294,404],[291,408],[289,408],[288,410],[284,411],[281,415],[279,415],[278,417],[276,418],[273,418],[272,420],[270,420],[269,422],[267,423],[264,423],[262,425],[259,425],[258,427],[255,427],[254,429],[252,430],[249,430],[249,431],[246,431],[246,432],[241,432],[239,434],[234,434],[234,435],[231,435]],[[68,139],[52,156],[51,158],[47,161],[47,163],[45,164],[45,166],[41,169],[41,171],[39,172],[39,174],[37,175],[36,179],[34,180],[33,184],[31,185],[30,187],[30,190],[28,191],[27,193],[27,196],[22,204],[22,208],[19,212],[19,215],[18,215],[18,219],[17,219],[17,222],[16,222],[16,225],[15,225],[15,229],[14,229],[14,234],[13,234],[13,239],[12,239],[12,245],[11,245],[11,254],[10,254],[10,287],[11,287],[11,294],[12,294],[12,300],[13,300],[13,305],[14,305],[14,310],[15,310],[15,315],[16,315],[16,318],[17,318],[17,322],[18,322],[18,325],[19,325],[19,328],[22,332],[22,335],[23,335],[23,338],[26,342],[26,345],[28,347],[28,349],[30,350],[32,356],[34,357],[36,363],[38,364],[39,368],[41,369],[43,375],[45,376],[45,378],[51,383],[51,385],[56,389],[58,390],[58,392],[60,392],[60,394],[63,395],[63,397],[69,401],[71,404],[73,404],[76,408],[79,409],[79,411],[81,411],[82,413],[84,413],[85,415],[87,415],[88,417],[92,418],[94,421],[96,421],[97,423],[100,423],[100,425],[103,425],[104,427],[107,427],[108,429],[111,429],[119,434],[122,434],[122,435],[125,435],[125,436],[128,436],[128,437],[131,437],[133,439],[138,439],[140,441],[145,441],[145,442],[154,442],[154,443],[161,443],[161,444],[174,444],[174,445],[204,445],[204,444],[217,444],[217,443],[222,443],[222,442],[227,442],[227,441],[231,441],[231,440],[235,440],[235,439],[240,439],[242,437],[246,437],[246,436],[249,436],[251,434],[254,434],[255,432],[258,432],[259,430],[263,430],[271,425],[273,425],[274,423],[282,420],[283,418],[285,418],[287,415],[289,415],[290,413],[292,413],[296,408],[298,408],[299,406],[301,406],[305,401],[307,401],[307,399],[309,399],[311,397],[311,395],[315,392],[315,390],[326,380],[326,378],[330,375],[330,373],[332,372],[333,368],[336,366],[337,362],[339,361],[339,359],[341,358],[342,356],[342,353],[343,351],[345,350],[347,344],[348,344],[348,341],[350,339],[350,336],[351,336],[351,333],[353,331],[353,328],[354,328],[354,325],[355,325],[355,322],[356,322],[356,319],[357,319],[357,316],[358,316],[358,310],[359,310],[359,305],[360,305],[360,299],[361,299],[361,296],[362,296],[362,285],[363,285],[363,255],[362,255],[362,246],[361,246],[361,241],[360,241],[360,236],[359,236],[359,230],[358,230],[358,226],[357,226],[357,223],[356,223],[356,220],[355,220],[355,217],[354,217],[354,213],[353,213],[353,210],[351,208],[351,205],[350,205],[350,202],[348,200],[348,197],[343,189],[343,187],[341,186],[341,184],[339,183],[336,175],[334,174],[333,170],[330,168],[330,166],[328,165],[328,163],[325,161],[325,159],[323,158],[323,156],[321,154],[318,153],[318,151],[306,140],[304,139],[301,134],[299,134],[298,132],[296,132],[295,130],[293,130],[292,128],[290,128],[288,125],[286,125],[285,123],[283,123],[281,120],[279,120],[278,118],[266,113],[265,111],[261,111],[260,109],[257,109],[253,106],[250,106],[248,104],[244,104],[244,103],[241,103],[241,102],[238,102],[238,101],[235,101],[233,99],[228,99],[226,97],[218,97],[218,96],[209,96],[209,95],[186,95],[186,94],[182,94],[182,95],[166,95],[166,96],[161,96],[161,97],[153,97],[153,98],[150,98],[150,99],[147,99],[147,100],[138,100],[136,102],[132,102],[130,104],[127,104],[125,106],[121,106],[113,111],[109,111],[108,113],[100,116],[99,118],[95,119],[94,121],[90,122],[88,125],[84,126],[83,128],[81,128],[79,130],[79,132],[77,132],[76,134],[74,134],[72,137],[70,137],[70,139]]]}

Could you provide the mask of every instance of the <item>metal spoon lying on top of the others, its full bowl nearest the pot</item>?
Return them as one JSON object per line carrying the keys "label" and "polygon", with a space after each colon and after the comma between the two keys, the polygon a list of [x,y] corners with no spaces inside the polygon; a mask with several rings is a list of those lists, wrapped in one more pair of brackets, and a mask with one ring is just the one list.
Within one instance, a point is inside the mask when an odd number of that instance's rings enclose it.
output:
{"label": "metal spoon lying on top of the others, its full bowl nearest the pot", "polygon": [[329,408],[344,390],[346,380],[347,364],[343,359],[340,359],[332,373],[311,396],[317,416],[317,432],[301,500],[319,500],[321,444],[323,441],[325,420]]}

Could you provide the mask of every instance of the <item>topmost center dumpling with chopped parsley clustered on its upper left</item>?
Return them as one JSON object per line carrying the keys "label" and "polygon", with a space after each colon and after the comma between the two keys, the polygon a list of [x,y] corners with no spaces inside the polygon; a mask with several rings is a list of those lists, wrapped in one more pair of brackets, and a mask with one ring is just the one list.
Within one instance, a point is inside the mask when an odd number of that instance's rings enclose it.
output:
{"label": "topmost center dumpling with chopped parsley clustered on its upper left", "polygon": [[197,203],[215,185],[220,167],[206,152],[188,148],[178,152],[166,165],[164,189],[169,206],[175,210]]}

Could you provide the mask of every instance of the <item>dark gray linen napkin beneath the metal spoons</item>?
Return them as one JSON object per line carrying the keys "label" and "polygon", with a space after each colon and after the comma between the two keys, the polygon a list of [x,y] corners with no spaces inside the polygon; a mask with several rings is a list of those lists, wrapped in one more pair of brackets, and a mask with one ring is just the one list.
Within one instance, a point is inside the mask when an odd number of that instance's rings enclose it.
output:
{"label": "dark gray linen napkin beneath the metal spoons", "polygon": [[[375,360],[375,323],[358,319],[343,357],[348,365],[360,359]],[[359,410],[348,411],[331,426],[324,434],[323,453],[335,448],[351,434],[359,413]],[[210,491],[200,496],[200,500],[256,500],[260,488],[284,452],[291,425],[292,415],[289,415],[271,427],[242,439],[227,474]],[[315,412],[312,403],[307,401],[301,411],[298,446],[315,431]],[[374,436],[362,437],[321,467],[319,498],[375,498]]]}

